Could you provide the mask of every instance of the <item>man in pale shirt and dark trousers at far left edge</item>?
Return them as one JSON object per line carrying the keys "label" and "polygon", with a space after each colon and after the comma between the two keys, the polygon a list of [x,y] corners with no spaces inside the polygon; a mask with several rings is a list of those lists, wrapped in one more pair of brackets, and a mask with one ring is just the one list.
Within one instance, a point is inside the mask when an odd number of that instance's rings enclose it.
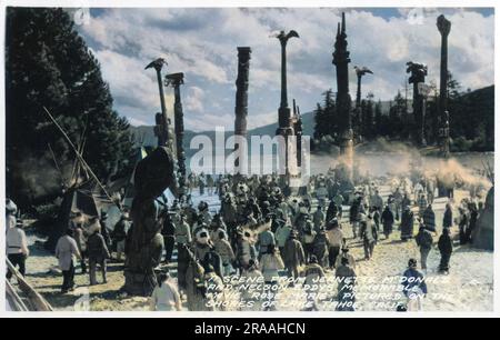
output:
{"label": "man in pale shirt and dark trousers at far left edge", "polygon": [[[16,221],[16,220],[14,220]],[[9,226],[9,224],[8,224]],[[24,230],[22,230],[22,221],[17,221],[13,226],[10,223],[6,236],[7,258],[13,267],[19,267],[21,276],[26,274],[26,259],[30,251],[28,250],[28,241]],[[7,271],[7,279],[12,278],[12,272]]]}

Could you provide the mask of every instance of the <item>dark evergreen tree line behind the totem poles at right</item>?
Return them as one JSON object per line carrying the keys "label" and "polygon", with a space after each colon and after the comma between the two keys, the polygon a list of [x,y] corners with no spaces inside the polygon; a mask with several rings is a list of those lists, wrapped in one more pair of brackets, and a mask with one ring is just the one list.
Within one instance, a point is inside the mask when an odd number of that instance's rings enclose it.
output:
{"label": "dark evergreen tree line behind the totem poles at right", "polygon": [[[438,103],[439,90],[429,84],[430,92],[424,104],[424,139],[427,146],[439,142]],[[314,129],[312,148],[329,150],[339,143],[336,93],[329,89],[322,93],[322,102],[313,111]],[[361,100],[351,112],[354,143],[384,138],[412,143],[416,129],[411,99],[397,92],[392,100],[374,101],[373,93]],[[493,151],[494,149],[494,87],[476,91],[462,90],[461,84],[449,74],[448,109],[450,112],[451,151]]]}

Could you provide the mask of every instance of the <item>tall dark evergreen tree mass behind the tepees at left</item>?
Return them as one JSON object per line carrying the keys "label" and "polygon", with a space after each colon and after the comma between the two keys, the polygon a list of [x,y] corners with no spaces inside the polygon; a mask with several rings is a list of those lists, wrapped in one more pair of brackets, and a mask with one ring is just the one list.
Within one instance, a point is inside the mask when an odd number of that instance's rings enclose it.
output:
{"label": "tall dark evergreen tree mass behind the tepees at left", "polygon": [[[48,144],[60,164],[74,153],[42,107],[49,109],[73,143],[84,139],[83,158],[106,180],[114,169],[129,172],[132,139],[129,124],[112,109],[99,62],[62,9],[8,8],[6,33],[6,103],[8,194],[31,204],[60,186],[33,192],[27,161],[52,167]],[[39,169],[49,171],[47,168]],[[47,179],[51,180],[50,178]],[[52,190],[49,190],[52,189]]]}

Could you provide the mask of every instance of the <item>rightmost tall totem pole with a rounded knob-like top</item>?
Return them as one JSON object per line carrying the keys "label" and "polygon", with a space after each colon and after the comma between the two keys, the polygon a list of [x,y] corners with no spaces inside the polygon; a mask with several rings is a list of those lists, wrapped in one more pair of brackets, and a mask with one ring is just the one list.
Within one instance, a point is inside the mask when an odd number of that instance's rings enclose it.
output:
{"label": "rightmost tall totem pole with a rounded knob-like top", "polygon": [[438,17],[438,30],[441,33],[441,71],[439,84],[439,137],[441,139],[441,152],[444,157],[450,154],[450,122],[448,112],[448,34],[451,22],[443,14]]}

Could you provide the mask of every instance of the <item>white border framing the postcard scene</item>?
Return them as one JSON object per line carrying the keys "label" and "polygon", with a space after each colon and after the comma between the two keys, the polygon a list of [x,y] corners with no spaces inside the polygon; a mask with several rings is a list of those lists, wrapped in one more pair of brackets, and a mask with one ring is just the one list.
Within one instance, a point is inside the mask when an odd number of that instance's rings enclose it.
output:
{"label": "white border framing the postcard scene", "polygon": [[[498,46],[499,46],[499,22],[497,16],[497,9],[500,6],[497,4],[496,1],[490,0],[476,0],[476,1],[463,1],[463,0],[453,0],[453,1],[443,1],[443,0],[422,0],[422,1],[411,1],[411,0],[399,0],[399,1],[367,1],[367,0],[336,0],[336,1],[327,1],[327,0],[121,0],[121,1],[112,1],[112,0],[81,0],[81,1],[63,1],[63,0],[3,0],[0,4],[0,212],[4,211],[4,194],[6,194],[6,160],[4,160],[4,151],[6,150],[6,89],[4,89],[4,20],[6,20],[6,7],[17,6],[17,7],[74,7],[74,8],[161,8],[161,7],[181,7],[181,8],[207,8],[207,7],[338,7],[338,8],[359,8],[359,7],[368,7],[368,8],[416,8],[416,7],[431,7],[431,8],[461,8],[461,7],[472,7],[472,8],[481,8],[489,7],[494,8],[494,54],[498,56]],[[333,24],[333,23],[332,23]],[[499,150],[500,146],[500,120],[498,119],[499,112],[499,89],[497,87],[498,82],[498,70],[494,68],[494,82],[496,82],[496,102],[494,102],[494,112],[496,112],[496,143],[494,149]],[[494,169],[499,168],[498,157],[494,157]],[[496,174],[496,182],[499,180],[499,174]],[[496,193],[494,197],[494,206],[500,207],[500,198]],[[1,219],[0,221],[3,221]],[[494,216],[494,226],[498,229],[498,216]],[[3,232],[3,223],[0,224],[0,253],[4,254],[4,232]],[[500,244],[500,231],[497,230],[494,234],[494,243]],[[143,317],[169,317],[169,318],[249,318],[249,317],[261,317],[261,318],[281,318],[281,317],[308,317],[308,318],[353,318],[353,317],[376,317],[376,318],[414,318],[414,317],[423,317],[423,318],[436,318],[436,317],[454,317],[454,318],[470,318],[470,317],[499,317],[499,282],[500,282],[500,273],[499,273],[499,251],[497,250],[493,256],[494,259],[494,294],[493,294],[493,311],[492,312],[422,312],[422,313],[398,313],[398,312],[353,312],[353,313],[339,313],[339,312],[170,312],[170,313],[159,313],[159,312],[38,312],[38,313],[28,313],[28,312],[6,312],[6,283],[4,280],[0,280],[0,317],[12,318],[12,317],[40,317],[40,318],[53,318],[53,317],[90,317],[90,318],[124,318],[124,317],[134,317],[134,318],[143,318]],[[0,272],[6,272],[6,263],[4,261],[0,261]]]}

